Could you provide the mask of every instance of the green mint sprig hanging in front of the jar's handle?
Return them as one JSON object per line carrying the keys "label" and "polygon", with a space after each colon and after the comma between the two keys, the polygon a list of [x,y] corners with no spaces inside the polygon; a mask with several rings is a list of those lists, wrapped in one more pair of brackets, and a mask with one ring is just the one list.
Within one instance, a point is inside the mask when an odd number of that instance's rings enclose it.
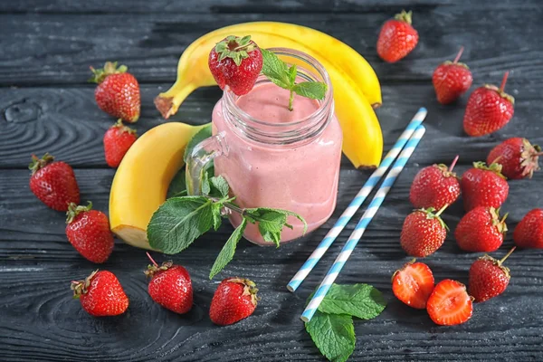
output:
{"label": "green mint sprig hanging in front of the jar's handle", "polygon": [[242,209],[233,204],[235,197],[230,197],[229,192],[230,187],[223,176],[209,177],[205,172],[202,179],[203,195],[169,198],[153,214],[147,230],[151,247],[167,254],[181,252],[212,227],[216,231],[221,226],[223,217],[227,217],[223,213],[224,208],[241,214],[242,224],[233,231],[214,262],[209,274],[209,279],[213,279],[232,261],[247,223],[258,224],[264,241],[277,246],[281,241],[282,229],[292,228],[287,223],[287,216],[298,218],[304,224],[304,233],[307,231],[307,223],[300,214],[268,207]]}

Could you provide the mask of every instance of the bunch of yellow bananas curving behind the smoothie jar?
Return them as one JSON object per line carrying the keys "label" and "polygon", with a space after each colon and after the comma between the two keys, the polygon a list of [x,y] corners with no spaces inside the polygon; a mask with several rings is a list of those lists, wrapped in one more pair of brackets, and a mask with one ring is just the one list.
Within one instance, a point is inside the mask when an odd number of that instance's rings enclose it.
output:
{"label": "bunch of yellow bananas curving behind the smoothie jar", "polygon": [[[157,109],[165,118],[175,114],[193,90],[216,84],[207,67],[207,56],[215,43],[230,34],[251,35],[262,48],[296,49],[321,62],[329,71],[334,88],[336,115],[344,135],[343,151],[355,167],[376,167],[379,164],[383,138],[372,104],[368,101],[372,100],[374,105],[381,102],[375,71],[347,44],[299,25],[271,22],[237,24],[197,39],[179,60],[176,83],[155,100]],[[306,40],[309,41],[306,43]]]}

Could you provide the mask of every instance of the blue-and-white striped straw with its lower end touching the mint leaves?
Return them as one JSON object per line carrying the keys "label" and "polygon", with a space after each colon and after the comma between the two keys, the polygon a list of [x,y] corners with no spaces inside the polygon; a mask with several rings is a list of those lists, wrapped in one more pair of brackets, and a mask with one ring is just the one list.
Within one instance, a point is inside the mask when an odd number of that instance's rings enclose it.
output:
{"label": "blue-and-white striped straw with its lower end touching the mint leaves", "polygon": [[417,129],[415,129],[413,136],[407,142],[407,145],[400,154],[400,157],[396,159],[395,164],[388,173],[388,175],[386,175],[385,181],[383,181],[383,184],[377,190],[376,195],[371,201],[371,204],[367,206],[366,212],[364,213],[364,215],[362,215],[362,218],[355,227],[355,230],[349,236],[348,241],[347,243],[345,243],[345,246],[339,253],[338,258],[336,258],[336,261],[326,274],[326,277],[320,283],[319,289],[315,292],[313,298],[310,300],[310,303],[301,314],[301,320],[303,320],[304,322],[309,322],[315,314],[315,311],[317,311],[317,309],[319,308],[320,302],[324,299],[332,283],[338,277],[339,271],[341,271],[341,268],[343,268],[343,265],[345,265],[345,262],[347,262],[348,257],[357,246],[358,241],[362,237],[362,234],[366,231],[367,225],[375,216],[377,210],[379,209],[379,206],[383,204],[385,196],[386,194],[388,194],[390,187],[394,185],[396,177],[404,169],[407,160],[413,154],[414,148],[416,148],[416,146],[418,145],[425,131],[426,129],[424,129],[424,126],[419,126],[417,127]]}

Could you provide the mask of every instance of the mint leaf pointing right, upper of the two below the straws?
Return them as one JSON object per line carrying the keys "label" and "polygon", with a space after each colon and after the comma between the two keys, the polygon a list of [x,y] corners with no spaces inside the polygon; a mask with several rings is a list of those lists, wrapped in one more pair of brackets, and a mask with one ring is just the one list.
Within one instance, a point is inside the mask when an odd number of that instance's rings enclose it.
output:
{"label": "mint leaf pointing right, upper of the two below the straws", "polygon": [[319,310],[329,314],[348,314],[359,319],[374,319],[385,307],[383,294],[371,285],[332,284]]}

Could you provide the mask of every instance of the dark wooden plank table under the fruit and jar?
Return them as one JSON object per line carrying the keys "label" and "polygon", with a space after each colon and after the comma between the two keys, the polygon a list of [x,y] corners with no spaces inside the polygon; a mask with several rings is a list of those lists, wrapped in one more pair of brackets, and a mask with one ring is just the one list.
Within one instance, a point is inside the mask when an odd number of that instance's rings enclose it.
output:
{"label": "dark wooden plank table under the fruit and jar", "polygon": [[[404,6],[414,11],[420,43],[405,60],[376,56],[380,25]],[[353,360],[543,360],[543,251],[519,251],[509,259],[512,280],[500,298],[475,305],[473,318],[457,327],[433,325],[424,311],[392,296],[390,276],[409,258],[398,238],[411,210],[408,189],[415,173],[460,154],[459,172],[482,160],[500,140],[522,136],[543,144],[543,8],[533,1],[454,0],[25,0],[0,2],[0,360],[170,361],[319,360],[300,321],[304,301],[352,231],[349,224],[300,290],[285,285],[366,180],[344,160],[338,208],[329,223],[281,249],[240,243],[224,274],[251,278],[262,295],[254,316],[219,328],[207,313],[216,283],[207,274],[232,228],[206,234],[173,259],[186,266],[195,285],[195,306],[179,316],[157,306],[147,293],[145,252],[118,242],[102,268],[119,276],[129,294],[128,312],[94,319],[71,300],[72,279],[96,268],[67,242],[64,215],[41,204],[28,187],[30,154],[51,152],[74,168],[81,199],[108,210],[115,170],[106,166],[101,138],[113,119],[93,97],[89,65],[108,60],[129,65],[142,90],[139,133],[162,123],[153,105],[176,79],[186,45],[226,24],[277,20],[314,27],[348,43],[375,67],[384,105],[377,110],[386,150],[414,112],[428,109],[427,133],[351,256],[338,282],[367,282],[389,304],[377,319],[356,322]],[[434,98],[434,67],[452,59],[460,45],[472,67],[474,86],[499,83],[517,99],[510,125],[482,138],[462,133],[467,97],[452,106]],[[218,89],[197,90],[172,120],[207,122]],[[531,208],[543,206],[543,172],[510,183],[503,210],[512,230]],[[360,214],[360,213],[359,213]],[[462,203],[445,214],[452,230]],[[511,233],[496,252],[512,245]],[[437,280],[467,282],[480,255],[460,252],[452,233],[426,258]],[[157,255],[162,259],[161,255]]]}

